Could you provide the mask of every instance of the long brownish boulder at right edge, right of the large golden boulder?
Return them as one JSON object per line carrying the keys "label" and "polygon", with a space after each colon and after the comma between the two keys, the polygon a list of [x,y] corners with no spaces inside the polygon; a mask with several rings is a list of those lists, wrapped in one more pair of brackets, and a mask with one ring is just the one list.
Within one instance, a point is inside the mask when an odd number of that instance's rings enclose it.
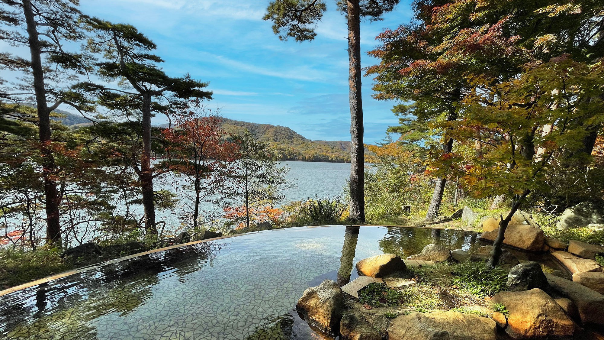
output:
{"label": "long brownish boulder at right edge, right of the large golden boulder", "polygon": [[579,283],[545,274],[550,290],[574,302],[583,325],[604,325],[604,295]]}

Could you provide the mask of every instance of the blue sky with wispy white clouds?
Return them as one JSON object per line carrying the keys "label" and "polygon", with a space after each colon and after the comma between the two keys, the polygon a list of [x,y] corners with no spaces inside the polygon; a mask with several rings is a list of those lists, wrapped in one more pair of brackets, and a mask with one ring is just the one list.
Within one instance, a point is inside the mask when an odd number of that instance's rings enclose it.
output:
{"label": "blue sky with wispy white clouds", "polygon": [[[312,140],[350,140],[346,22],[326,0],[328,11],[312,42],[283,42],[263,21],[269,0],[80,0],[82,11],[138,28],[158,45],[156,54],[171,76],[190,73],[210,82],[210,108],[222,116],[288,126]],[[384,28],[408,22],[401,1],[384,21],[361,24],[362,66],[377,60],[365,52]],[[394,102],[371,98],[365,77],[365,142],[379,142],[397,119]],[[160,117],[156,123],[162,123]]]}

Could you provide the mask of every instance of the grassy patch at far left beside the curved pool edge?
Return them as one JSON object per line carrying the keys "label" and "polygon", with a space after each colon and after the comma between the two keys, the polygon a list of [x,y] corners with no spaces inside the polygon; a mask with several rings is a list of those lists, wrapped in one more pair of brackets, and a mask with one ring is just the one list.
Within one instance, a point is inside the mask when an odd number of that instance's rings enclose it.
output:
{"label": "grassy patch at far left beside the curved pool edge", "polygon": [[74,269],[59,257],[58,248],[42,247],[36,251],[0,251],[0,285],[4,288],[18,286],[45,276]]}

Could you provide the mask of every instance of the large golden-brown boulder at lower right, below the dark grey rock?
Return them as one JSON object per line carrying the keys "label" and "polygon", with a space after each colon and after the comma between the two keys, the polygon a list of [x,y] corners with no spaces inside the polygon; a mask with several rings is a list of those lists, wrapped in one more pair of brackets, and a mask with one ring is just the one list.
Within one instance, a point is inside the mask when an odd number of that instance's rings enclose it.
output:
{"label": "large golden-brown boulder at lower right, below the dark grey rock", "polygon": [[509,311],[506,333],[514,339],[564,338],[579,332],[577,324],[541,289],[499,292],[493,303]]}

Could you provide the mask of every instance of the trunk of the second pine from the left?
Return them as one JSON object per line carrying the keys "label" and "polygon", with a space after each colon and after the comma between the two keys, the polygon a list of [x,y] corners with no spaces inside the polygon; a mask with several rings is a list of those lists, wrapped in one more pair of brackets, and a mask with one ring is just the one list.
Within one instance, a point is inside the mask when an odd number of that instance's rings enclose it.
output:
{"label": "trunk of the second pine from the left", "polygon": [[151,166],[151,96],[143,96],[143,154],[141,155],[141,185],[147,234],[158,235],[153,202],[153,168]]}

